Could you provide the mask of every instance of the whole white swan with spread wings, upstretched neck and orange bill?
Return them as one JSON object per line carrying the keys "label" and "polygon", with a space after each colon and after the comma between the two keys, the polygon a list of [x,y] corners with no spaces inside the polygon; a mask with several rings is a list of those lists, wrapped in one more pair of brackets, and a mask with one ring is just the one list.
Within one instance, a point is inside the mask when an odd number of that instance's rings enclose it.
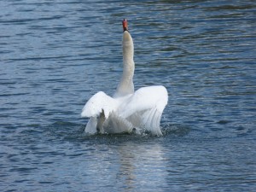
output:
{"label": "whole white swan with spread wings, upstretched neck and orange bill", "polygon": [[134,91],[133,41],[128,32],[128,21],[124,19],[122,24],[122,78],[112,97],[99,91],[85,103],[81,116],[90,119],[84,131],[112,134],[146,130],[162,136],[160,118],[168,102],[167,90],[162,85],[154,85]]}

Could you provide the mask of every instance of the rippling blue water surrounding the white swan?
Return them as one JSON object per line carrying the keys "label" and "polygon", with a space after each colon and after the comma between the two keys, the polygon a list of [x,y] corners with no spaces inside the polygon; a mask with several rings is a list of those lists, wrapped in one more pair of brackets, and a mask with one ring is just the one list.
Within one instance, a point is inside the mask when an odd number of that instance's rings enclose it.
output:
{"label": "rippling blue water surrounding the white swan", "polygon": [[[256,3],[0,2],[1,191],[255,191]],[[163,84],[163,137],[85,136],[122,72]]]}

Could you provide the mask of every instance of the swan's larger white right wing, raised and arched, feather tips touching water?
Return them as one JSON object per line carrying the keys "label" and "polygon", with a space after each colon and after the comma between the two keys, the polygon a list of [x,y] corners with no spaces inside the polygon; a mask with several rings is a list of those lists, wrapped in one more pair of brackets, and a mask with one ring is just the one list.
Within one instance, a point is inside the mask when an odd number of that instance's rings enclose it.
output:
{"label": "swan's larger white right wing, raised and arched, feather tips touching water", "polygon": [[[140,124],[154,135],[162,135],[160,117],[168,102],[168,93],[164,86],[149,86],[137,90],[119,107],[119,115],[131,119],[131,123]],[[140,122],[138,122],[140,121]]]}

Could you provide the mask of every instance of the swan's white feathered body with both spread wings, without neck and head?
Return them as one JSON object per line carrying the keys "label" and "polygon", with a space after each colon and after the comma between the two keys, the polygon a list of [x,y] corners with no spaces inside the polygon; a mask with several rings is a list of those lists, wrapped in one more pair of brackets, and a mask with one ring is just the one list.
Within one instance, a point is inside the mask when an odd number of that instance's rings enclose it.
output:
{"label": "swan's white feathered body with both spread wings, without neck and head", "polygon": [[163,86],[150,86],[137,90],[134,94],[112,98],[103,92],[92,96],[85,104],[82,117],[90,117],[85,132],[95,133],[99,129],[108,133],[131,132],[133,127],[146,129],[160,136],[160,117],[166,107],[168,95]]}

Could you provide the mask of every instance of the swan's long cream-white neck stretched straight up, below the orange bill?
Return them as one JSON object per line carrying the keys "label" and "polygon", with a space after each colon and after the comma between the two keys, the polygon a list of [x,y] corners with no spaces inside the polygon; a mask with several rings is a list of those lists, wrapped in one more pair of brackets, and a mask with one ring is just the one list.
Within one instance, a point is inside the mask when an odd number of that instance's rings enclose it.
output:
{"label": "swan's long cream-white neck stretched straight up, below the orange bill", "polygon": [[133,41],[129,32],[123,35],[123,75],[115,96],[125,96],[134,92],[133,74]]}

